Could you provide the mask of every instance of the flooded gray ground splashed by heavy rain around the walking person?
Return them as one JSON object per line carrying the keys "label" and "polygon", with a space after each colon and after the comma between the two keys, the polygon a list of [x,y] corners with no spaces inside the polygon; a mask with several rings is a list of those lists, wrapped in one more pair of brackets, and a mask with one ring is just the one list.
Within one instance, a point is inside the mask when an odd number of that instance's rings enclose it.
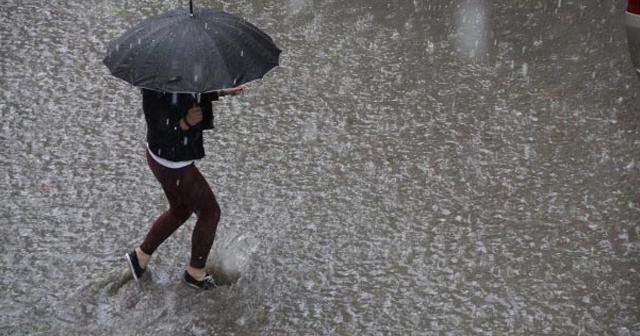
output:
{"label": "flooded gray ground splashed by heavy rain around the walking person", "polygon": [[123,275],[166,205],[101,64],[177,3],[1,2],[0,334],[640,334],[624,1],[196,1],[284,50],[216,106],[202,293],[193,219]]}

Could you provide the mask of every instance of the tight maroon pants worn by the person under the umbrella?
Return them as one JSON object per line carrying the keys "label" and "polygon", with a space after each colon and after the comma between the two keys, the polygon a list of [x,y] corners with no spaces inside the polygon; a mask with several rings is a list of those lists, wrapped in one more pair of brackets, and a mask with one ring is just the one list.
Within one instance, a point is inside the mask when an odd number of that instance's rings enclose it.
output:
{"label": "tight maroon pants worn by the person under the umbrella", "polygon": [[171,169],[156,162],[147,152],[147,163],[162,185],[169,209],[153,222],[140,249],[149,255],[189,219],[198,216],[191,235],[191,261],[194,268],[204,268],[220,221],[220,206],[213,191],[194,164]]}

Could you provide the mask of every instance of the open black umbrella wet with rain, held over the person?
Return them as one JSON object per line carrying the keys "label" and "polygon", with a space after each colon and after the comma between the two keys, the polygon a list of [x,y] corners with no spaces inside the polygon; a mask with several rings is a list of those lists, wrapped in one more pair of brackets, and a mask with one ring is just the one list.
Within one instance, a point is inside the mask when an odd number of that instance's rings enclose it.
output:
{"label": "open black umbrella wet with rain, held over the person", "polygon": [[173,10],[149,17],[113,41],[104,64],[134,86],[205,93],[262,78],[278,65],[269,35],[233,14]]}

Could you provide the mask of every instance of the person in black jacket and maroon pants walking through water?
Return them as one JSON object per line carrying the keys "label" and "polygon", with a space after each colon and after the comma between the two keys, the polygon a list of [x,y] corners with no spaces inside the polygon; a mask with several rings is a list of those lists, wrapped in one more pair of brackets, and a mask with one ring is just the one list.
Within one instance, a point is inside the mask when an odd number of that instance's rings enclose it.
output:
{"label": "person in black jacket and maroon pants walking through water", "polygon": [[220,206],[195,161],[205,156],[202,131],[213,129],[212,102],[236,96],[244,86],[203,94],[164,93],[142,89],[147,124],[146,159],[169,202],[152,223],[142,243],[125,255],[133,278],[144,274],[156,249],[192,214],[198,217],[191,237],[191,259],[184,281],[199,289],[217,285],[205,263],[220,221]]}

